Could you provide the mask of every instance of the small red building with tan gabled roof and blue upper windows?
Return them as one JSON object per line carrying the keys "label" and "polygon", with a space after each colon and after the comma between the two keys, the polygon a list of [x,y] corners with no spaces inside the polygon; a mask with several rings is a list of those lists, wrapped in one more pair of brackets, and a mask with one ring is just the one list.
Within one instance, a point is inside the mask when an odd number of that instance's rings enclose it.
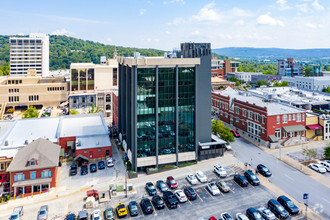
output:
{"label": "small red building with tan gabled roof and blue upper windows", "polygon": [[42,138],[20,149],[7,169],[11,194],[24,197],[55,187],[60,149]]}

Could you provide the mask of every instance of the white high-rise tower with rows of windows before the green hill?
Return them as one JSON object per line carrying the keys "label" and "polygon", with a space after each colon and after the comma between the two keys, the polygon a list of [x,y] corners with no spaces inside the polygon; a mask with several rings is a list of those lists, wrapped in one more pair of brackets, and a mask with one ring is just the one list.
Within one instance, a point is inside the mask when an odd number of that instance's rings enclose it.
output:
{"label": "white high-rise tower with rows of windows before the green hill", "polygon": [[29,37],[11,37],[10,75],[26,76],[33,69],[38,76],[49,75],[49,36],[36,33]]}

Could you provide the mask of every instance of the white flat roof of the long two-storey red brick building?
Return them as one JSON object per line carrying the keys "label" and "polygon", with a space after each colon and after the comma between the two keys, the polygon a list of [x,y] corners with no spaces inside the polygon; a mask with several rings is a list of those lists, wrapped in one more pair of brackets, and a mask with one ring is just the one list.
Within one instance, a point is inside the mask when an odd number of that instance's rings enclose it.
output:
{"label": "white flat roof of the long two-storey red brick building", "polygon": [[305,112],[302,109],[295,108],[293,106],[284,105],[281,103],[266,102],[265,99],[251,96],[248,92],[241,92],[234,90],[230,87],[223,91],[214,91],[215,94],[230,97],[230,99],[236,99],[242,102],[248,102],[250,104],[255,104],[259,107],[267,108],[267,115],[283,115],[292,113],[302,113]]}

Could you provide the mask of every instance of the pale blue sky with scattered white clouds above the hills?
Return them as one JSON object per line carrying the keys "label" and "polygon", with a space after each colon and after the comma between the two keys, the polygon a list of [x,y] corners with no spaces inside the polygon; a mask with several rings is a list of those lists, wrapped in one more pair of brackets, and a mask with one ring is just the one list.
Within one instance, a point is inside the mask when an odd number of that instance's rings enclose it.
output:
{"label": "pale blue sky with scattered white clouds above the hills", "polygon": [[330,48],[330,0],[1,0],[0,34],[125,47]]}

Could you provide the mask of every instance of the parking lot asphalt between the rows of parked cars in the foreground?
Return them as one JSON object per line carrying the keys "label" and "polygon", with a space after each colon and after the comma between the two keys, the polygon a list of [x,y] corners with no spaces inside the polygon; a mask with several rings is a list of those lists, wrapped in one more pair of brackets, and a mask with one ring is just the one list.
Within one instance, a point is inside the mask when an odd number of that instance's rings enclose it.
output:
{"label": "parking lot asphalt between the rows of parked cars in the foreground", "polygon": [[[193,219],[198,219],[201,217],[208,219],[211,216],[219,218],[220,214],[223,212],[228,212],[232,215],[232,217],[235,217],[237,213],[245,213],[246,209],[249,207],[259,208],[261,206],[266,206],[269,199],[277,198],[276,195],[262,185],[252,186],[249,184],[248,187],[242,188],[232,180],[235,173],[242,174],[243,172],[244,171],[236,165],[227,167],[228,176],[222,180],[225,180],[231,188],[231,191],[228,193],[221,192],[220,195],[213,196],[208,191],[206,183],[199,183],[192,186],[198,195],[196,200],[188,200],[185,203],[179,203],[176,209],[169,209],[167,206],[165,206],[162,210],[154,209],[155,211],[150,215],[143,214],[141,207],[139,207],[139,215],[137,217],[131,217],[128,213],[128,216],[123,219],[175,219],[182,218],[182,216],[192,217]],[[208,177],[209,181],[220,180],[220,178],[212,170],[204,172],[204,174]],[[164,176],[164,180],[165,178],[166,177]],[[178,189],[191,186],[185,178],[175,179],[179,185]],[[108,204],[102,204],[99,209],[103,211],[109,206],[115,208],[119,202],[123,202],[127,205],[129,201],[136,201],[139,204],[143,197],[148,197],[151,200],[152,197],[148,196],[144,187],[138,187],[136,190],[136,195],[131,196],[130,198],[122,198],[120,200],[116,199]],[[162,193],[158,190],[158,188],[157,194],[162,196]],[[89,212],[91,213],[92,210]]]}

